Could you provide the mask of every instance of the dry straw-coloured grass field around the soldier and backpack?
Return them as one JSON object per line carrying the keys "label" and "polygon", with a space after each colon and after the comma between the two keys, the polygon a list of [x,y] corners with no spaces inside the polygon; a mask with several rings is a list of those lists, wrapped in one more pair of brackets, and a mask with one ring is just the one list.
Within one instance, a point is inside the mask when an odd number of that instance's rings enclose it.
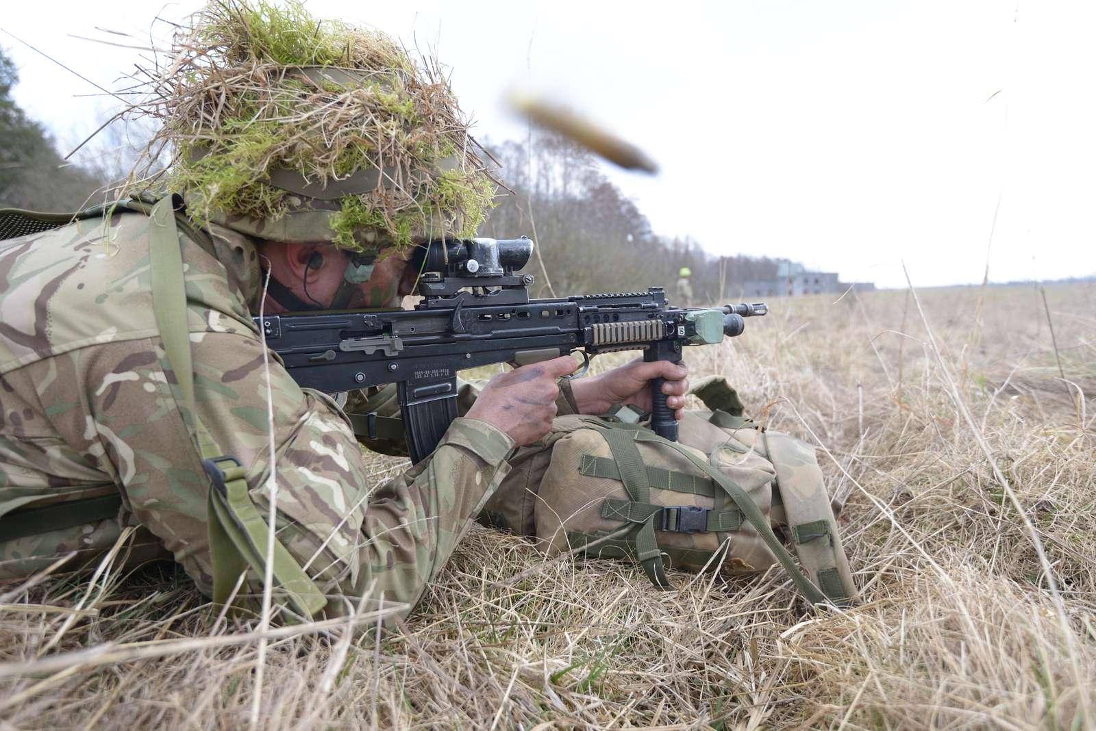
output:
{"label": "dry straw-coloured grass field around the soldier and backpack", "polygon": [[404,631],[275,630],[260,685],[254,623],[104,567],[0,587],[0,729],[237,729],[256,694],[262,729],[1096,728],[1096,286],[918,297],[777,299],[689,352],[819,445],[855,608],[476,527]]}

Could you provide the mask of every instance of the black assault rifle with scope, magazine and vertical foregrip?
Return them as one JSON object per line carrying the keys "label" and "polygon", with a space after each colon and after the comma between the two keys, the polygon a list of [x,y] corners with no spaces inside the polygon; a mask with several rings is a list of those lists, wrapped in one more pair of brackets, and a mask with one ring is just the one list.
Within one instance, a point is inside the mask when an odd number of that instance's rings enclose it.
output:
{"label": "black assault rifle with scope, magazine and vertical foregrip", "polygon": [[[686,345],[716,344],[764,315],[763,303],[717,310],[674,308],[661,287],[646,292],[530,300],[532,275],[515,274],[533,253],[526,237],[433,242],[411,258],[421,274],[414,310],[347,310],[255,317],[266,341],[301,386],[341,393],[397,383],[411,459],[437,446],[457,417],[457,371],[527,363],[578,351],[584,359],[643,350],[643,360],[680,361]],[[662,379],[651,383],[651,428],[677,439]]]}

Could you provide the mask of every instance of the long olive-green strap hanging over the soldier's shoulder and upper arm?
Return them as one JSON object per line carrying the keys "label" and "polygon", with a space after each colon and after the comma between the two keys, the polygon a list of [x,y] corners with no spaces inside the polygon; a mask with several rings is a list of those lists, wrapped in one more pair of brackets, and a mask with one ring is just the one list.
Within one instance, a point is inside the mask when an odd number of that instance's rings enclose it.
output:
{"label": "long olive-green strap hanging over the soldier's shoulder and upper arm", "polygon": [[[240,573],[249,567],[259,571],[260,576],[265,575],[270,529],[251,500],[246,471],[235,457],[221,454],[195,408],[194,368],[186,322],[186,283],[175,227],[175,210],[181,208],[182,199],[170,196],[158,201],[150,211],[152,310],[168,364],[183,395],[186,407],[184,421],[212,483],[207,522],[213,600],[225,604]],[[287,592],[294,610],[311,618],[327,604],[327,597],[279,542],[275,541],[274,546],[272,569],[275,581]]]}

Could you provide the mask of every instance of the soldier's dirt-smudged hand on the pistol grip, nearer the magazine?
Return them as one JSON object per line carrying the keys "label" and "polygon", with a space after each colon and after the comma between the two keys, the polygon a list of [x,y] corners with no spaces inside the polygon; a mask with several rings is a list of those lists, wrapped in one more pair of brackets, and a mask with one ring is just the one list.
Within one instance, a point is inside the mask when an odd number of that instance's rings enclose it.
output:
{"label": "soldier's dirt-smudged hand on the pistol grip, nearer the magazine", "polygon": [[574,358],[563,356],[500,373],[476,397],[466,416],[499,427],[518,446],[532,444],[548,433],[556,418],[556,380],[576,367]]}

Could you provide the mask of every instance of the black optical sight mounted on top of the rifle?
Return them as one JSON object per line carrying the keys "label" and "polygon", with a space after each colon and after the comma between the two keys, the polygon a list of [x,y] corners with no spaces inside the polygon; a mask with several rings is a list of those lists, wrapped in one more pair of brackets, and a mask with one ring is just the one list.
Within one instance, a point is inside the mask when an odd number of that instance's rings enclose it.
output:
{"label": "black optical sight mounted on top of the rifle", "polygon": [[415,247],[412,265],[423,274],[456,277],[501,277],[524,267],[533,242],[521,239],[453,239]]}

